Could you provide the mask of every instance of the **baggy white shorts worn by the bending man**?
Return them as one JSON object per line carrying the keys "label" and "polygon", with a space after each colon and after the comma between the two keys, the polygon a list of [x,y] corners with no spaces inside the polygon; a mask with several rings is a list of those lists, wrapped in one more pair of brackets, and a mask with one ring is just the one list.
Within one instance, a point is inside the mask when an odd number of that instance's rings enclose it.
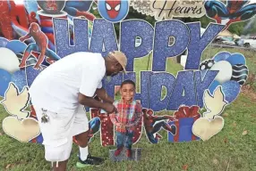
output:
{"label": "baggy white shorts worn by the bending man", "polygon": [[[47,161],[58,162],[69,159],[73,136],[89,130],[89,122],[83,106],[80,105],[74,113],[55,113],[45,108],[43,110],[47,111],[43,111],[38,106],[34,106],[34,109],[44,138]],[[41,122],[43,113],[48,117],[47,123]]]}

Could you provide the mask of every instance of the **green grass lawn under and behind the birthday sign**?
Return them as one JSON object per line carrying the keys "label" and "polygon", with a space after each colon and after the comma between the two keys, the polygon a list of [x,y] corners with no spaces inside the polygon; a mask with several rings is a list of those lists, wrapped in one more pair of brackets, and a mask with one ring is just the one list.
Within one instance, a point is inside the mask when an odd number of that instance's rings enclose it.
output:
{"label": "green grass lawn under and behind the birthday sign", "polygon": [[[211,58],[214,54],[223,51],[219,48],[208,48],[202,59]],[[250,74],[256,74],[256,59],[254,52],[228,49],[231,53],[243,53],[247,59]],[[151,59],[151,58],[150,58]],[[135,70],[147,70],[149,56],[136,59]],[[151,66],[149,61],[149,70]],[[176,74],[183,69],[168,59],[166,70]],[[255,80],[254,80],[255,81]],[[255,82],[254,82],[255,83]],[[249,95],[250,94],[250,95]],[[163,139],[158,144],[150,144],[143,132],[140,142],[133,147],[142,148],[141,161],[125,161],[114,163],[108,159],[108,151],[115,146],[101,147],[99,134],[90,143],[90,152],[93,155],[106,158],[100,167],[77,169],[78,147],[73,145],[72,157],[68,163],[68,170],[156,170],[156,171],[253,171],[256,170],[256,91],[254,89],[243,92],[235,102],[226,107],[224,129],[207,142],[167,142],[167,134],[161,131]],[[158,112],[158,115],[171,112]],[[21,143],[13,140],[2,129],[2,121],[8,116],[0,106],[0,170],[41,171],[49,170],[50,164],[44,159],[44,148],[40,144]]]}

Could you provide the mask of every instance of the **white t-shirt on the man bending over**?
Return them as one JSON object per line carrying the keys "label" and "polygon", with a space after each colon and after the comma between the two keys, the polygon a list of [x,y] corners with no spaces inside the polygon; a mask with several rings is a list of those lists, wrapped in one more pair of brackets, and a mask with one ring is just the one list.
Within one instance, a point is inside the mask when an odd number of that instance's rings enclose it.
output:
{"label": "white t-shirt on the man bending over", "polygon": [[33,105],[54,112],[74,112],[78,94],[93,97],[106,74],[100,53],[73,53],[44,69],[30,86]]}

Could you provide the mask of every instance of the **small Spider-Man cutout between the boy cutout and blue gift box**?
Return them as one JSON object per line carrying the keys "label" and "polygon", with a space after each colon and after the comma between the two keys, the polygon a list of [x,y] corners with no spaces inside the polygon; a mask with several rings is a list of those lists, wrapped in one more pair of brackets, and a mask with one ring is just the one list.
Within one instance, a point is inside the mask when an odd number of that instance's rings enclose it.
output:
{"label": "small Spider-Man cutout between the boy cutout and blue gift box", "polygon": [[162,137],[160,134],[158,134],[158,131],[160,131],[161,128],[164,128],[171,134],[176,134],[176,126],[169,126],[165,121],[166,119],[173,119],[172,116],[154,116],[153,110],[146,109],[143,109],[142,112],[143,122],[149,142],[158,143],[159,139]]}

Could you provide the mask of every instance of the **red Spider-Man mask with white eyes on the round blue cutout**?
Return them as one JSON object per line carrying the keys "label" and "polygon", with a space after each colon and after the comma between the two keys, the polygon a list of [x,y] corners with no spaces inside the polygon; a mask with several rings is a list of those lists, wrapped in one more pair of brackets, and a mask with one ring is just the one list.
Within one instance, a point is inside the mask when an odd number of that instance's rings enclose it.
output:
{"label": "red Spider-Man mask with white eyes on the round blue cutout", "polygon": [[121,1],[120,0],[106,0],[107,14],[111,19],[115,19],[120,12]]}

